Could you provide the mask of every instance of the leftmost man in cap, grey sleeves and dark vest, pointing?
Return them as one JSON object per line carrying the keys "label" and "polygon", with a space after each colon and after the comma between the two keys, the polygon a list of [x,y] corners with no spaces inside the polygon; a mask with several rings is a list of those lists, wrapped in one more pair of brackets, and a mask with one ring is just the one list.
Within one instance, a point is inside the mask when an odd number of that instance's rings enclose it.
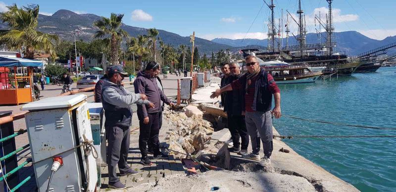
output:
{"label": "leftmost man in cap, grey sleeves and dark vest, pointing", "polygon": [[137,171],[128,166],[127,158],[130,142],[130,129],[132,125],[131,104],[147,104],[154,107],[154,104],[147,100],[144,94],[134,94],[127,91],[121,82],[123,75],[127,73],[121,65],[111,66],[108,70],[108,81],[102,82],[102,104],[106,121],[107,146],[107,166],[108,166],[108,186],[113,189],[125,189],[125,185],[120,182],[116,175],[116,165],[120,175],[135,175]]}

